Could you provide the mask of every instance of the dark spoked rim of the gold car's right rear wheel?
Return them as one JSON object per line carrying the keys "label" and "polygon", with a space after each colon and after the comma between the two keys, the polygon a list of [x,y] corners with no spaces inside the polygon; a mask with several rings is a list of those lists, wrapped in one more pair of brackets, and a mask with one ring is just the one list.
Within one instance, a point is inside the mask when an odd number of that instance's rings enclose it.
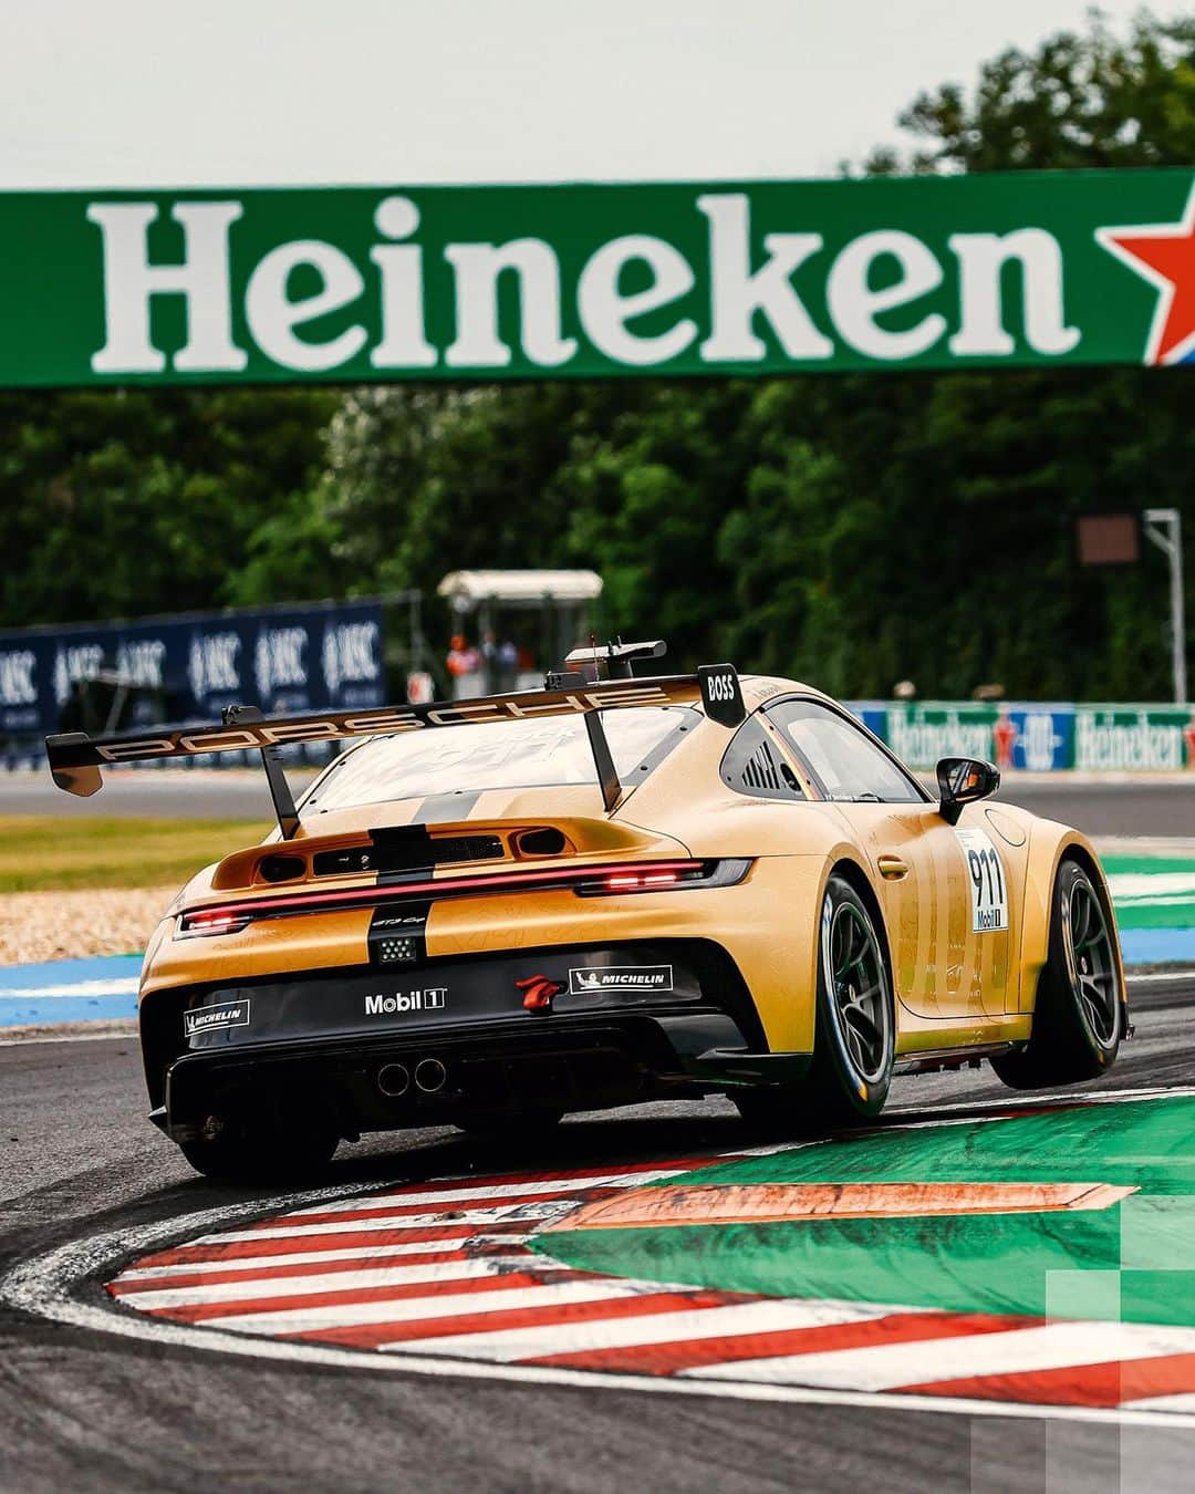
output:
{"label": "dark spoked rim of the gold car's right rear wheel", "polygon": [[826,898],[822,959],[831,1011],[850,1067],[866,1083],[883,1079],[892,1013],[884,961],[875,931],[853,902]]}

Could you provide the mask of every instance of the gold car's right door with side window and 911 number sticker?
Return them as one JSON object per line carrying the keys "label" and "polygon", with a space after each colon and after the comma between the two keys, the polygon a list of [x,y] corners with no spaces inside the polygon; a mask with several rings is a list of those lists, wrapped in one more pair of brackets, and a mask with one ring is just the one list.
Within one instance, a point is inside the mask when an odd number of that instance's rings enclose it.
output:
{"label": "gold car's right door with side window and 911 number sticker", "polygon": [[944,1020],[1014,1010],[1008,867],[992,838],[974,825],[949,825],[916,778],[845,713],[790,698],[766,714],[838,804],[877,874],[904,1005]]}

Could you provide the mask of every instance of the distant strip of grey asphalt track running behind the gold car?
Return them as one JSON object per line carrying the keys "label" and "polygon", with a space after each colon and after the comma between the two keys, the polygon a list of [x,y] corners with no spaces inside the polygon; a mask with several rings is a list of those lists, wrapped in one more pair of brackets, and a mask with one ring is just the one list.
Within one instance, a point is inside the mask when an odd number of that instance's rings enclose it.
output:
{"label": "distant strip of grey asphalt track running behind the gold car", "polygon": [[[1195,774],[1125,777],[1008,774],[1008,804],[1074,825],[1087,835],[1195,838]],[[90,799],[55,789],[45,772],[0,774],[3,814],[128,814],[175,819],[273,819],[264,775],[252,769],[111,772]]]}

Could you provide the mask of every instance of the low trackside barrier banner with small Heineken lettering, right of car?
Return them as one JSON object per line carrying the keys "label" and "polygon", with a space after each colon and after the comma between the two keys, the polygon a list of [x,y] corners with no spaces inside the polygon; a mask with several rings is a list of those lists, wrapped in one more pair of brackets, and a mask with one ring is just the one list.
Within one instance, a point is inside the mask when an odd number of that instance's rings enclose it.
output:
{"label": "low trackside barrier banner with small Heineken lettering, right of car", "polygon": [[922,771],[940,757],[984,757],[1029,772],[1195,768],[1195,708],[1189,705],[860,701],[851,710],[898,757]]}

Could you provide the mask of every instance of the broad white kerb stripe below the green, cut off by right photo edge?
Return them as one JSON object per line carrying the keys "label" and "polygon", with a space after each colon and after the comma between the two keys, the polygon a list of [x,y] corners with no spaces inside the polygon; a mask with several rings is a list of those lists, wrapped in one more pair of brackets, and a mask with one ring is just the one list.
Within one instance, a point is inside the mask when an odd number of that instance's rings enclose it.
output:
{"label": "broad white kerb stripe below the green, cut off by right photo edge", "polygon": [[923,1339],[865,1349],[792,1354],[681,1370],[692,1379],[769,1380],[825,1389],[886,1391],[899,1385],[969,1379],[974,1374],[1023,1374],[1067,1366],[1149,1360],[1189,1354],[1195,1330],[1125,1322],[1065,1322],[960,1339]]}

